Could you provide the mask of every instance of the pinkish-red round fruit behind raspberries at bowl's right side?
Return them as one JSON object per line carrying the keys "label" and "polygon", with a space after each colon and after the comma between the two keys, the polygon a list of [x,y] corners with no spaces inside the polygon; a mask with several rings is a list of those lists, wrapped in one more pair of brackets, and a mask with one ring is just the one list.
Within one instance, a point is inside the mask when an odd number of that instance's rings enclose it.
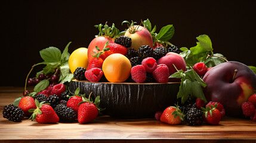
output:
{"label": "pinkish-red round fruit behind raspberries at bowl's right side", "polygon": [[[165,64],[169,68],[170,75],[177,72],[175,67],[178,70],[186,71],[185,60],[183,59],[183,57],[181,57],[181,55],[179,55],[175,52],[168,52],[164,57],[159,58],[158,61],[156,61],[156,63]],[[173,66],[173,64],[175,67]],[[178,82],[178,81],[180,81],[180,79],[170,78],[169,81],[170,82]]]}

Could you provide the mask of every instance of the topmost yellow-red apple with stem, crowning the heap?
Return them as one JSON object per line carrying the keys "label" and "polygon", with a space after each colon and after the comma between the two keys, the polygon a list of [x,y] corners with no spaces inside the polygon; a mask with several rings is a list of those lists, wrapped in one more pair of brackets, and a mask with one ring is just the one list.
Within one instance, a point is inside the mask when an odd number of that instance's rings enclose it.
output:
{"label": "topmost yellow-red apple with stem, crowning the heap", "polygon": [[132,26],[127,29],[124,36],[131,38],[131,47],[138,51],[142,45],[149,45],[153,48],[152,36],[146,28],[143,26]]}

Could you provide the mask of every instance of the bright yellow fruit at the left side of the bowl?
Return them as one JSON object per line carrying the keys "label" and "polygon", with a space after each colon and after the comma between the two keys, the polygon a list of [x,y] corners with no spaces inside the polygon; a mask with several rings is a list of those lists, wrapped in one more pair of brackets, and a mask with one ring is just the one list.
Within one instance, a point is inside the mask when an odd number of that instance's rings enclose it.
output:
{"label": "bright yellow fruit at the left side of the bowl", "polygon": [[72,52],[69,57],[69,69],[71,73],[73,73],[78,67],[84,67],[85,69],[87,69],[87,51],[87,48],[78,48]]}

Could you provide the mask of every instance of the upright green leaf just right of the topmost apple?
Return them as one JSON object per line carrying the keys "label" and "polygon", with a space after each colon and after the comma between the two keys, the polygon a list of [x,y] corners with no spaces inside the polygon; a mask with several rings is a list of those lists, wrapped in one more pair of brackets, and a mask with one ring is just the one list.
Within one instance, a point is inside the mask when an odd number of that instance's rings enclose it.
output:
{"label": "upright green leaf just right of the topmost apple", "polygon": [[162,27],[162,29],[158,33],[158,36],[156,36],[156,39],[158,39],[159,41],[169,41],[169,39],[171,39],[173,35],[174,26],[172,26],[172,24],[169,24],[167,26]]}

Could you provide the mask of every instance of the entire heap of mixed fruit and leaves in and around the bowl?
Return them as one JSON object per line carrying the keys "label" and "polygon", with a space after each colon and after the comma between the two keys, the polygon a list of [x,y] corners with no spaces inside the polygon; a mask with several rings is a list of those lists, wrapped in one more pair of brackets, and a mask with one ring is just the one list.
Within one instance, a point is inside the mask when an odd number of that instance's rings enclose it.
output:
{"label": "entire heap of mixed fruit and leaves in and around the bowl", "polygon": [[[44,60],[33,67],[45,67],[35,77],[26,78],[24,97],[4,107],[3,116],[20,122],[24,117],[38,123],[87,123],[103,110],[100,97],[93,101],[71,93],[73,79],[89,82],[180,82],[178,103],[155,114],[156,120],[178,125],[218,125],[227,116],[246,116],[256,120],[256,67],[237,61],[227,61],[213,52],[211,39],[200,35],[196,46],[177,48],[169,40],[174,27],[169,24],[156,33],[149,19],[143,26],[134,21],[123,21],[128,29],[120,32],[115,24],[98,24],[99,33],[87,48],[78,48],[69,54],[67,44],[60,49],[42,49]],[[33,92],[26,86],[35,86]],[[88,90],[88,89],[87,89]]]}

